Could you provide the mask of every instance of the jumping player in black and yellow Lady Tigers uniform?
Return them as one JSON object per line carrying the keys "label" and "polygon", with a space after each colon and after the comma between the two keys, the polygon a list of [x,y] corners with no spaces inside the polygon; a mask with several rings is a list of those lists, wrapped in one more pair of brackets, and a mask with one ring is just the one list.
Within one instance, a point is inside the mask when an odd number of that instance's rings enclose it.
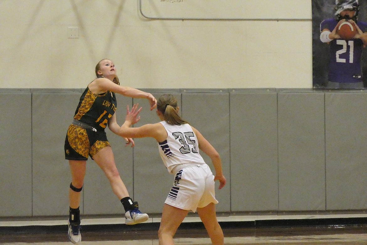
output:
{"label": "jumping player in black and yellow Lady Tigers uniform", "polygon": [[[86,173],[86,161],[90,156],[105,173],[113,192],[125,209],[125,224],[137,224],[148,220],[141,213],[138,202],[132,201],[117,170],[113,152],[106,137],[105,128],[117,134],[120,126],[116,122],[117,101],[115,93],[132,98],[147,98],[150,110],[157,107],[152,94],[131,87],[120,86],[112,61],[104,59],[95,67],[97,79],[88,84],[80,97],[74,119],[65,139],[65,159],[69,160],[72,182],[69,190],[69,230],[71,242],[78,244],[80,235],[80,192]],[[134,146],[132,138],[125,138],[127,145]]]}

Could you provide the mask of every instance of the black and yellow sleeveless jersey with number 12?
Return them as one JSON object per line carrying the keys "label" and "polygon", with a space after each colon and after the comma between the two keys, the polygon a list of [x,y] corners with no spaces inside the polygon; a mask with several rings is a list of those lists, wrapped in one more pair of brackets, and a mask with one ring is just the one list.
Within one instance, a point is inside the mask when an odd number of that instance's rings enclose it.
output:
{"label": "black and yellow sleeveless jersey with number 12", "polygon": [[94,94],[87,87],[80,97],[74,119],[86,123],[98,131],[103,131],[116,109],[115,93],[107,91],[103,94]]}

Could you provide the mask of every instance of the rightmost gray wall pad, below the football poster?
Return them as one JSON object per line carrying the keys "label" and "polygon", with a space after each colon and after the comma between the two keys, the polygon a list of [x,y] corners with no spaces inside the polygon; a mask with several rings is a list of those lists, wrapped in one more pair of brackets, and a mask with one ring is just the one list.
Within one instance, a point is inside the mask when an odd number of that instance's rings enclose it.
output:
{"label": "rightmost gray wall pad, below the football poster", "polygon": [[367,94],[325,94],[326,209],[367,208]]}

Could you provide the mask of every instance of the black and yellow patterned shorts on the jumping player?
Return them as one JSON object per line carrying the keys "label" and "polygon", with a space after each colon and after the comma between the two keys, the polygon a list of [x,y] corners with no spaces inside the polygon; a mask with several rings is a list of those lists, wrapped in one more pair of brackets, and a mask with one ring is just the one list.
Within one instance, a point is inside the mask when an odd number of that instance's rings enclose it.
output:
{"label": "black and yellow patterned shorts on the jumping player", "polygon": [[65,159],[88,160],[102,148],[110,146],[105,131],[92,131],[79,126],[70,125],[65,138]]}

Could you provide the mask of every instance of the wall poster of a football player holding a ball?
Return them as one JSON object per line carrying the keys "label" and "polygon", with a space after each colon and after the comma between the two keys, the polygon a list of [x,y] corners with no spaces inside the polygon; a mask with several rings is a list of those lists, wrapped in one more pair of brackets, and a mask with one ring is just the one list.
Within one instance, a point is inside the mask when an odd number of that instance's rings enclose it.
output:
{"label": "wall poster of a football player holding a ball", "polygon": [[366,8],[365,0],[312,0],[315,89],[367,88]]}

